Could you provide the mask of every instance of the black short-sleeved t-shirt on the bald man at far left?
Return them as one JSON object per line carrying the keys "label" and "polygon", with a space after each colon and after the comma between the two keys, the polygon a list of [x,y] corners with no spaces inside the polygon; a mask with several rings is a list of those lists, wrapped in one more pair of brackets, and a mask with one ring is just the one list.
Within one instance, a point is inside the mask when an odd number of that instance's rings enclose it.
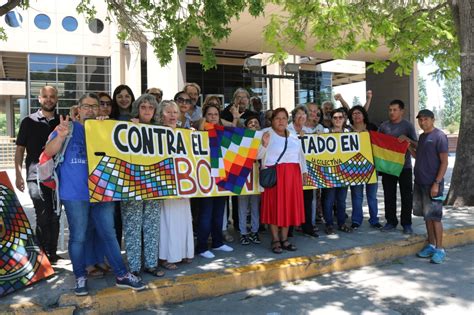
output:
{"label": "black short-sleeved t-shirt on the bald man at far left", "polygon": [[39,156],[41,152],[43,152],[49,134],[58,124],[58,115],[47,120],[41,110],[25,117],[25,119],[21,121],[16,144],[26,148],[25,163],[27,181],[36,181],[36,165],[38,164]]}

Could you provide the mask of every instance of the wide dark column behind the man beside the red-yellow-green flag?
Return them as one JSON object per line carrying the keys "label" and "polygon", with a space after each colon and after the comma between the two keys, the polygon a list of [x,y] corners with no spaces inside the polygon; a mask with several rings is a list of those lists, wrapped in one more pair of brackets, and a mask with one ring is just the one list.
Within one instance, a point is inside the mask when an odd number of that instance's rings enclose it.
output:
{"label": "wide dark column behind the man beside the red-yellow-green flag", "polygon": [[393,99],[405,103],[405,119],[415,123],[418,90],[416,81],[418,73],[414,70],[409,76],[395,74],[396,65],[391,64],[383,73],[375,74],[372,70],[366,73],[366,88],[373,91],[372,104],[369,109],[370,121],[380,124],[388,119],[388,104]]}

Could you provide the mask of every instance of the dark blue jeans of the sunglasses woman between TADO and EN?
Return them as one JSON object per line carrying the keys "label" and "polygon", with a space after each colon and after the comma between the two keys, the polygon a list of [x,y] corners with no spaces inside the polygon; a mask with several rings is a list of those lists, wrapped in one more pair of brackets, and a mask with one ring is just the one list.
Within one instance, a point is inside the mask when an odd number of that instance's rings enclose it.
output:
{"label": "dark blue jeans of the sunglasses woman between TADO and EN", "polygon": [[326,226],[334,225],[332,211],[336,203],[337,225],[346,223],[347,187],[324,188],[324,221]]}

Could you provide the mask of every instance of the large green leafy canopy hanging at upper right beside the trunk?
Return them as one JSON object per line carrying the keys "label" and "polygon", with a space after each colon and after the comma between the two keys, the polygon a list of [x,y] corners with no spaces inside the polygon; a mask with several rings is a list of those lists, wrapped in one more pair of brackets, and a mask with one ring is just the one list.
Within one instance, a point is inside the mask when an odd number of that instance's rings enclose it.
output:
{"label": "large green leafy canopy hanging at upper right beside the trunk", "polygon": [[[355,52],[389,50],[389,60],[375,60],[375,72],[390,62],[396,73],[408,75],[413,65],[432,56],[440,69],[437,76],[459,73],[459,45],[447,1],[306,1],[274,0],[286,11],[272,17],[265,39],[285,56],[288,48],[312,43],[315,51],[328,51],[334,58]],[[270,31],[269,31],[270,29]]]}

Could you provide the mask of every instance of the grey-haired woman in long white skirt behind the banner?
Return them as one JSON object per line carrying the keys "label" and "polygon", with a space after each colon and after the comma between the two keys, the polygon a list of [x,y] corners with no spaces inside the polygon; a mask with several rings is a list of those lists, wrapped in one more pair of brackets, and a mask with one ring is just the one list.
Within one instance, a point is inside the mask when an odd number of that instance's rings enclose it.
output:
{"label": "grey-haired woman in long white skirt behind the banner", "polygon": [[[159,106],[160,122],[175,129],[179,107],[173,101],[163,101]],[[177,262],[191,263],[194,257],[194,237],[191,205],[188,198],[165,199],[161,211],[160,265],[174,270]]]}

